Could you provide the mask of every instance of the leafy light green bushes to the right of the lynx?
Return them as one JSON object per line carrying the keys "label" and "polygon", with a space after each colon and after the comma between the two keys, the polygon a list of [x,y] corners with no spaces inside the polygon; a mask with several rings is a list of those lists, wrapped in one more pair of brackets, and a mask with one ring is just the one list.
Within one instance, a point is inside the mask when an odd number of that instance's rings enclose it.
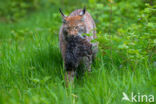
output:
{"label": "leafy light green bushes to the right of the lynx", "polygon": [[[101,14],[104,5],[95,5],[100,7],[96,13]],[[110,15],[112,18],[104,16],[106,14],[101,15],[103,17],[99,16],[99,25],[97,27],[100,31],[96,40],[99,42],[99,47],[101,48],[102,53],[104,53],[104,57],[110,60],[108,63],[111,62],[112,58],[114,64],[118,66],[129,64],[132,67],[136,67],[136,65],[140,65],[139,63],[146,61],[153,62],[155,60],[154,52],[156,39],[153,17],[156,10],[154,9],[154,6],[146,4],[146,7],[143,10],[138,9],[130,11],[130,13],[126,11],[131,15],[127,15],[126,13],[126,15],[124,15],[122,13],[118,14],[119,7],[114,6],[115,8],[113,9],[113,5],[116,4],[112,4],[112,9],[109,6],[105,7],[105,9],[108,8],[108,10],[105,11],[108,11],[108,13],[111,12]],[[131,8],[132,6],[133,3]],[[137,6],[139,5],[134,5],[134,7]],[[129,6],[127,7],[129,8]],[[105,21],[105,17],[107,21],[103,22]],[[126,20],[121,20],[121,18],[125,17]],[[127,21],[130,21],[131,23],[127,24]],[[103,31],[105,30],[104,27],[107,31]],[[112,54],[112,57],[110,57],[110,54]]]}

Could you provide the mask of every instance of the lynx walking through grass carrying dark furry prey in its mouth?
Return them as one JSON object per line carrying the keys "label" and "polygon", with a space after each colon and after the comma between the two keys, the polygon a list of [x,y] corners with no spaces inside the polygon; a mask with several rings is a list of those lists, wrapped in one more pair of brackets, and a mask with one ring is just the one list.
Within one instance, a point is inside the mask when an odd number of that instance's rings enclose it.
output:
{"label": "lynx walking through grass carrying dark furry prey in its mouth", "polygon": [[[80,64],[90,72],[93,58],[97,53],[97,43],[91,43],[96,38],[96,26],[86,9],[73,11],[65,16],[61,9],[63,24],[59,32],[59,43],[64,61],[66,81],[73,81]],[[86,36],[84,34],[92,34]]]}

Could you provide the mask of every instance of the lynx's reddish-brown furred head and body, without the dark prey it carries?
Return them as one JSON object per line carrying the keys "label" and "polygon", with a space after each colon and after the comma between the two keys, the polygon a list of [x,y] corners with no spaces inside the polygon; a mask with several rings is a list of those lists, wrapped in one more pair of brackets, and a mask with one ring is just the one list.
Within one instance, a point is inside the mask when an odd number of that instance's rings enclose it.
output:
{"label": "lynx's reddish-brown furred head and body, without the dark prey it carries", "polygon": [[[86,40],[86,42],[83,41],[84,43],[92,44],[94,48],[92,50],[93,54],[90,55],[90,58],[87,58],[87,57],[83,58],[83,59],[87,59],[84,61],[84,63],[86,64],[86,68],[88,69],[88,71],[91,71],[92,57],[95,56],[97,52],[97,44],[91,43],[91,40],[96,38],[96,30],[95,30],[96,26],[91,15],[87,11],[85,11],[85,9],[75,10],[67,17],[64,16],[62,11],[60,12],[63,17],[63,25],[60,28],[59,42],[60,42],[60,49],[61,49],[61,54],[62,54],[64,63],[66,63],[65,53],[66,53],[67,45],[70,44],[68,43],[67,39],[72,36],[79,36],[82,39]],[[93,34],[93,35],[84,37],[83,36],[84,33]],[[67,72],[67,73],[70,73],[70,72]],[[69,78],[69,80],[73,79],[70,77],[70,75],[68,75],[67,77]]]}

